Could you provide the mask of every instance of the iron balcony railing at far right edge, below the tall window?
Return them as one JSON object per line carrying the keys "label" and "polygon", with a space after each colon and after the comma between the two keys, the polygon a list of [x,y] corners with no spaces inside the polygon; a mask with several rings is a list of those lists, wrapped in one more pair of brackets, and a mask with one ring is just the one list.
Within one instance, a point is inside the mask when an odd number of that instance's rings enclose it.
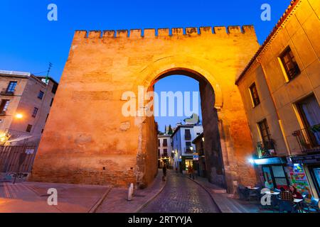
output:
{"label": "iron balcony railing at far right edge, below the tall window", "polygon": [[292,133],[304,153],[320,152],[320,124]]}

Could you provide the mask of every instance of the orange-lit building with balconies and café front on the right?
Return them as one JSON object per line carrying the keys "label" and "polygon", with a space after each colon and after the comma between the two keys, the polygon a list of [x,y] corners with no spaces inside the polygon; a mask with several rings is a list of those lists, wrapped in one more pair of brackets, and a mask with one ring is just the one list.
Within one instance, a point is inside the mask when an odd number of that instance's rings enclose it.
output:
{"label": "orange-lit building with balconies and caf\u00e9 front on the right", "polygon": [[292,1],[238,77],[260,181],[320,196],[319,1]]}

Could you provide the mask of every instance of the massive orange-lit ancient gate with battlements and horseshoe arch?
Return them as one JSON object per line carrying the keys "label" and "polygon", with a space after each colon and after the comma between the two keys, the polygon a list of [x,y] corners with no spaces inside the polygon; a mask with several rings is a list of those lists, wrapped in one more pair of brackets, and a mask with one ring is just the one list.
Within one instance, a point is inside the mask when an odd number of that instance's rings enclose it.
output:
{"label": "massive orange-lit ancient gate with battlements and horseshoe arch", "polygon": [[257,48],[252,26],[76,31],[31,180],[149,184],[157,172],[156,124],[124,116],[122,94],[138,97],[138,86],[186,74],[200,82],[210,181],[230,192],[255,182],[235,77]]}

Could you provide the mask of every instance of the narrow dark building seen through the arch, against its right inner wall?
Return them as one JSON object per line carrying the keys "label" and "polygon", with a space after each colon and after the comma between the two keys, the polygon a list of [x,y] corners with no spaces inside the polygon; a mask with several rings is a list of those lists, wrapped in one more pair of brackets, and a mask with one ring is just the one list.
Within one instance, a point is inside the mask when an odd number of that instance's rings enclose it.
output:
{"label": "narrow dark building seen through the arch, against its right inner wall", "polygon": [[200,177],[206,177],[206,156],[205,156],[205,139],[203,137],[203,133],[198,135],[192,143],[196,145],[196,155],[197,159],[194,163],[196,163],[196,170],[198,173],[198,176]]}

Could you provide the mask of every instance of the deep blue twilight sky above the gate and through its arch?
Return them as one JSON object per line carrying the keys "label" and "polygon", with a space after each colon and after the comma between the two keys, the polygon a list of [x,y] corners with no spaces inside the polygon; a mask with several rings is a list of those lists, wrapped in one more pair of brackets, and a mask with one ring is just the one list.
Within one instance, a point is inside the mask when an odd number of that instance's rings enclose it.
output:
{"label": "deep blue twilight sky above the gate and through its arch", "polygon": [[[47,20],[47,6],[58,6],[58,21]],[[271,21],[260,19],[260,6],[270,4]],[[260,43],[284,13],[290,0],[1,0],[0,70],[43,72],[59,81],[75,30],[255,26]],[[190,78],[167,77],[156,90],[198,91]],[[173,82],[174,80],[174,82]],[[177,88],[177,86],[179,85]],[[181,118],[157,118],[159,128]]]}

